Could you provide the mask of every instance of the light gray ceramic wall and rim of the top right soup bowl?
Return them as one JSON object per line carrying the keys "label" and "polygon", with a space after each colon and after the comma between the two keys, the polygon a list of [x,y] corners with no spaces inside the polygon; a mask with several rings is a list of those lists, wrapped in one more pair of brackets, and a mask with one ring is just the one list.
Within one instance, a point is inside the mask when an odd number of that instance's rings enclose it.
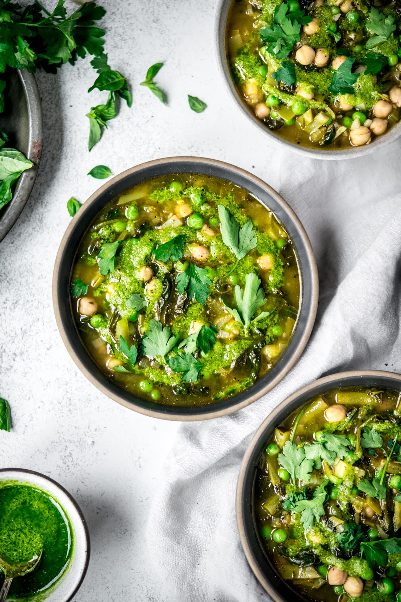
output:
{"label": "light gray ceramic wall and rim of the top right soup bowl", "polygon": [[217,3],[216,25],[214,30],[217,63],[219,63],[220,73],[222,73],[223,79],[227,85],[229,95],[232,97],[232,99],[234,99],[233,104],[236,104],[241,113],[248,119],[249,123],[253,123],[257,128],[260,129],[260,131],[263,131],[269,140],[272,141],[272,143],[278,144],[282,148],[286,148],[288,151],[293,151],[300,155],[304,155],[304,157],[336,160],[365,157],[371,152],[376,151],[376,149],[383,148],[384,146],[391,144],[391,142],[400,137],[401,123],[398,123],[398,125],[394,128],[391,128],[387,134],[378,137],[377,140],[365,146],[360,146],[359,148],[338,149],[338,151],[320,151],[319,149],[308,148],[306,146],[301,146],[300,144],[294,144],[293,142],[285,140],[285,138],[281,138],[281,136],[278,136],[274,132],[270,131],[270,129],[267,128],[266,125],[264,125],[252,111],[249,110],[238,94],[238,90],[235,88],[234,82],[232,81],[226,49],[227,20],[232,1],[233,0],[219,0]]}

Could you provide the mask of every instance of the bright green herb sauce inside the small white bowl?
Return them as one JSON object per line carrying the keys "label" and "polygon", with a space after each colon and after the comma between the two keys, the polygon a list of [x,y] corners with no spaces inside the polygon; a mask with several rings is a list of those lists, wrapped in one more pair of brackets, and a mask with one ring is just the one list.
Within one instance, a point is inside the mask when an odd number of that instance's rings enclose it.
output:
{"label": "bright green herb sauce inside the small white bowl", "polygon": [[39,566],[13,580],[10,598],[28,600],[60,579],[72,556],[73,539],[69,519],[51,495],[25,483],[2,485],[0,556],[18,565],[41,550]]}

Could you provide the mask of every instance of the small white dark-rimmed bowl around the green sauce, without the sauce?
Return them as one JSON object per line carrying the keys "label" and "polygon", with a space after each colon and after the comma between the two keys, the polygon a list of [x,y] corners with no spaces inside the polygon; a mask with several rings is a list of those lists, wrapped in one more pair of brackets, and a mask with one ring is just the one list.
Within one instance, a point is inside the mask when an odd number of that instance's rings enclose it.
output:
{"label": "small white dark-rimmed bowl around the green sauce, without the sauce", "polygon": [[[50,477],[24,468],[0,469],[0,485],[2,481],[16,484],[37,486],[49,493],[65,510],[73,531],[73,552],[70,564],[63,576],[51,588],[39,595],[40,602],[69,602],[75,596],[84,580],[90,557],[90,541],[88,527],[76,501],[71,495]],[[32,602],[36,598],[30,598]]]}

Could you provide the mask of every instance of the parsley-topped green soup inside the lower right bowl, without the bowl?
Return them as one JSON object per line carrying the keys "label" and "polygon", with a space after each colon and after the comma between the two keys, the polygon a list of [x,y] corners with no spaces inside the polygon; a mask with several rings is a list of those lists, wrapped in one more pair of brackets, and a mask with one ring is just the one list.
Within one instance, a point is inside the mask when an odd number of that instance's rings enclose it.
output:
{"label": "parsley-topped green soup inside the lower right bowl, without the bowl", "polygon": [[267,442],[256,525],[278,573],[306,600],[401,600],[400,398],[336,389]]}

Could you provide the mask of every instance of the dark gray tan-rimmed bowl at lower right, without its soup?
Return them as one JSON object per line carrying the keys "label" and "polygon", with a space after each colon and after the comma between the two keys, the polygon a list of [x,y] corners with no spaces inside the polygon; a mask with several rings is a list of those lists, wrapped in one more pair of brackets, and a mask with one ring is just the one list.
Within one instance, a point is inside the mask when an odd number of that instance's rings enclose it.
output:
{"label": "dark gray tan-rimmed bowl at lower right, without its soup", "polygon": [[[272,436],[276,426],[282,423],[291,412],[302,406],[312,397],[324,395],[328,391],[344,386],[385,386],[401,391],[401,375],[378,370],[341,372],[315,380],[281,402],[269,414],[253,436],[244,455],[237,483],[237,524],[241,544],[250,568],[267,593],[275,602],[299,600],[299,592],[294,591],[279,577],[269,558],[263,551],[260,536],[255,524],[253,495],[255,492],[256,464]],[[302,598],[308,600],[308,598]]]}

